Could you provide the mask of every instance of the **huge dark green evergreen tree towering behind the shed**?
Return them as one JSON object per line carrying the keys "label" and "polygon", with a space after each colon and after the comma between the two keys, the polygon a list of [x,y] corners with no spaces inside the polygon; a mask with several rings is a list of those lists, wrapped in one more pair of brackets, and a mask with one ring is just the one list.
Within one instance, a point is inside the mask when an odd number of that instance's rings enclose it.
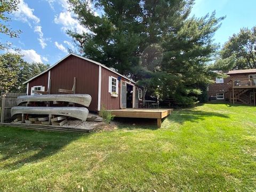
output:
{"label": "huge dark green evergreen tree towering behind the shed", "polygon": [[215,18],[215,13],[189,18],[194,1],[69,2],[81,25],[89,29],[83,34],[68,31],[83,55],[139,80],[149,94],[174,97],[186,105],[201,94],[198,84],[210,81],[205,63],[217,49],[212,36],[223,18]]}

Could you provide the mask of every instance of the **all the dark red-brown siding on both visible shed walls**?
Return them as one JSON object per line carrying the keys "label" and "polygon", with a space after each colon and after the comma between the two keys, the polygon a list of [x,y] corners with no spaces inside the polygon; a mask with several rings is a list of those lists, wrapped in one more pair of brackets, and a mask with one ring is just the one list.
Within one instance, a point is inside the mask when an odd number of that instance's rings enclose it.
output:
{"label": "all the dark red-brown siding on both visible shed walls", "polygon": [[[71,90],[76,80],[76,93],[90,94],[92,102],[89,107],[90,111],[98,110],[98,85],[99,85],[99,66],[90,61],[86,61],[74,55],[70,55],[65,60],[58,63],[57,66],[50,69],[51,71],[51,94],[60,94],[58,89]],[[118,97],[111,97],[108,92],[108,78],[113,76],[118,78],[119,75],[101,67],[101,107],[106,109],[120,108],[120,81],[118,83]],[[47,90],[48,72],[36,77],[29,82],[29,94],[31,86],[43,85]],[[122,77],[123,81],[129,82],[129,79]],[[140,101],[141,102],[141,101]]]}

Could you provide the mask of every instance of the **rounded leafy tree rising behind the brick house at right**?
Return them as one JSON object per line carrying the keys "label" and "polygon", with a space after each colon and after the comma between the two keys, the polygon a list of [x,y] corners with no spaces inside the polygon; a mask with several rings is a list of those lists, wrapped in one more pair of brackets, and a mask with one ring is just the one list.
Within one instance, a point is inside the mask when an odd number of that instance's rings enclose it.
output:
{"label": "rounded leafy tree rising behind the brick house at right", "polygon": [[229,38],[220,51],[216,65],[225,69],[256,68],[256,26],[252,29],[242,28],[238,34]]}

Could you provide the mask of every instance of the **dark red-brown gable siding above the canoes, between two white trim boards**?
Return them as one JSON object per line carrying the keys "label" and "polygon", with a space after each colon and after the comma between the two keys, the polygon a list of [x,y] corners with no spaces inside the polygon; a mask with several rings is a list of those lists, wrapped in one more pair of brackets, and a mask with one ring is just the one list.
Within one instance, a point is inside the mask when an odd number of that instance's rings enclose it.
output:
{"label": "dark red-brown gable siding above the canoes, between two white trim boards", "polygon": [[51,69],[51,94],[58,89],[71,90],[76,77],[76,93],[90,94],[90,111],[98,108],[99,66],[90,61],[70,55]]}

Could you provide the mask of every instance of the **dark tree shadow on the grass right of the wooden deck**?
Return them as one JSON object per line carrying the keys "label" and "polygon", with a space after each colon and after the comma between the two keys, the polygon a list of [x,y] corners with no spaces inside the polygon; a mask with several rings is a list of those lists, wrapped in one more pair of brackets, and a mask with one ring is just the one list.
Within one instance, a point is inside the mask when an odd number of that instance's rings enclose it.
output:
{"label": "dark tree shadow on the grass right of the wooden deck", "polygon": [[221,117],[221,118],[229,118],[226,114],[208,112],[202,110],[194,110],[194,109],[183,109],[174,111],[170,116],[167,117],[170,121],[177,122],[183,124],[185,122],[197,122],[204,120],[205,118],[211,117]]}

